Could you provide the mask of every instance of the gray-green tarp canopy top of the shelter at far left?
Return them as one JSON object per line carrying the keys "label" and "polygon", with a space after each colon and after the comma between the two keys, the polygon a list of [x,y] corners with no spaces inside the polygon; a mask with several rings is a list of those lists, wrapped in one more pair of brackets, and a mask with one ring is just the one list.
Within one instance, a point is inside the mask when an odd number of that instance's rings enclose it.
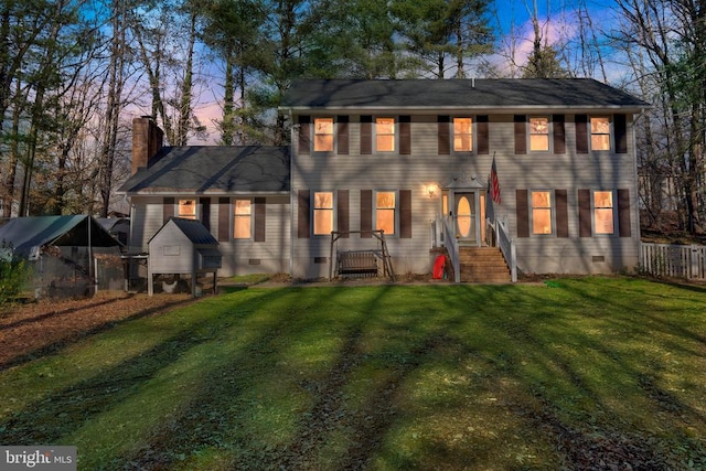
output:
{"label": "gray-green tarp canopy top of the shelter at far left", "polygon": [[[89,227],[90,231],[88,231]],[[12,245],[15,256],[29,260],[38,259],[41,248],[47,245],[60,247],[118,247],[121,245],[93,216],[86,215],[15,217],[0,226],[0,248],[9,244]]]}

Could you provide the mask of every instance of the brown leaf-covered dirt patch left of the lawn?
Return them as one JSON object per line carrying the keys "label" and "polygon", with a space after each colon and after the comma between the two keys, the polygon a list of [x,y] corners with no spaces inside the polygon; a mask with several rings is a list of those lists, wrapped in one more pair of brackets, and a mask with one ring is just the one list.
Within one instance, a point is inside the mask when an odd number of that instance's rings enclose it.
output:
{"label": "brown leaf-covered dirt patch left of the lawn", "polygon": [[194,302],[189,295],[101,291],[92,298],[46,299],[0,308],[0,370],[61,350],[117,323]]}

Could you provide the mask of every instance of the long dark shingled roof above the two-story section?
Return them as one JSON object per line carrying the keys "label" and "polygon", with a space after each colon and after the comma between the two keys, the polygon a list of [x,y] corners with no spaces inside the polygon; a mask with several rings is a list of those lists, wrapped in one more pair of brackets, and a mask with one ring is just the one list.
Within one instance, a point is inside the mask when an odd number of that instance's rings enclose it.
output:
{"label": "long dark shingled roof above the two-story section", "polygon": [[523,109],[649,107],[634,96],[592,78],[483,78],[406,81],[296,81],[285,109]]}

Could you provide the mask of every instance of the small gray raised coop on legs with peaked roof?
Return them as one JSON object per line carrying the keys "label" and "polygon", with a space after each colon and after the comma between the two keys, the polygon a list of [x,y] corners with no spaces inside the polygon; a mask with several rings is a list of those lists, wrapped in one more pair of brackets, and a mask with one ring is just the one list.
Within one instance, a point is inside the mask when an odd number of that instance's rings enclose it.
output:
{"label": "small gray raised coop on legs with peaked roof", "polygon": [[199,221],[170,217],[148,243],[147,287],[153,293],[154,275],[191,275],[191,293],[196,296],[199,274],[216,274],[221,268],[218,242]]}

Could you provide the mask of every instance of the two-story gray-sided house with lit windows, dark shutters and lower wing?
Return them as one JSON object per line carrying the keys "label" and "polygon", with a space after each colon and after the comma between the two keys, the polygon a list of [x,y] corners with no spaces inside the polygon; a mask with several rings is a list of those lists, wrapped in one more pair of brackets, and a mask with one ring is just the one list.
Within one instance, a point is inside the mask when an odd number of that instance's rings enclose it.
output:
{"label": "two-story gray-sided house with lit windows, dark shutters and lower wing", "polygon": [[634,268],[633,122],[648,106],[593,79],[301,81],[280,108],[289,148],[158,150],[140,118],[122,186],[130,245],[194,217],[217,236],[223,275],[317,278],[332,231],[336,250],[365,250],[383,229],[395,270],[426,274],[435,245],[488,245],[502,221],[521,271]]}

